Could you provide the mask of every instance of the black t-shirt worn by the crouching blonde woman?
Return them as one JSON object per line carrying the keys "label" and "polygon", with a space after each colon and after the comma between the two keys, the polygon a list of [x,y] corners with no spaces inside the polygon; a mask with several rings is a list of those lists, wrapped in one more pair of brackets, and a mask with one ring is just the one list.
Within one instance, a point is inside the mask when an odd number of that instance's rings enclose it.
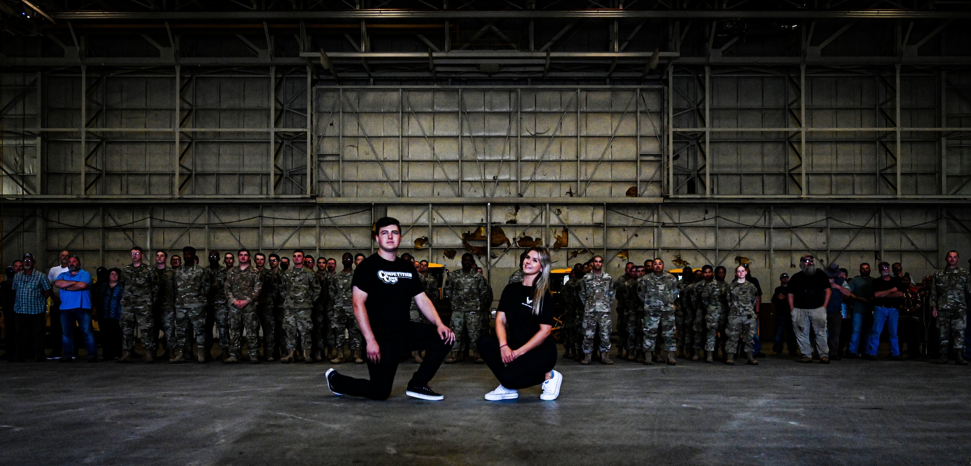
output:
{"label": "black t-shirt worn by the crouching blonde woman", "polygon": [[[533,286],[526,286],[522,283],[510,283],[502,290],[502,297],[499,298],[499,307],[496,312],[506,315],[506,344],[509,348],[516,350],[526,344],[529,339],[540,331],[540,324],[553,325],[553,304],[552,296],[547,291],[540,306],[540,315],[533,315]],[[547,337],[544,345],[555,345],[552,337]]]}

